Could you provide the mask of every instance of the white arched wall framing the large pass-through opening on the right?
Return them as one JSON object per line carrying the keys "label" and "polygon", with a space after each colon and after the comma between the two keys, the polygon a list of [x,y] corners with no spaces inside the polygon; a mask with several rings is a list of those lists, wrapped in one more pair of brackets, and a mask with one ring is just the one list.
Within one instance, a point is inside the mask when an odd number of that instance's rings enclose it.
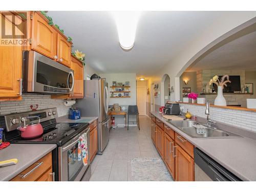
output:
{"label": "white arched wall framing the large pass-through opening on the right", "polygon": [[[197,54],[203,54],[206,49],[208,50],[212,46],[216,45],[216,39],[220,37],[220,39],[218,39],[218,42],[225,39],[228,36],[228,34],[226,34],[227,32],[244,24],[253,17],[255,17],[255,12],[226,12],[219,20],[216,20],[216,22],[214,23],[210,23],[209,27],[198,35],[198,38],[195,38],[194,41],[187,42],[186,49],[181,51],[180,54],[172,58],[172,60],[170,60],[162,69],[156,72],[154,76],[152,76],[151,81],[160,83],[163,75],[168,74],[170,77],[170,87],[174,86],[175,90],[175,93],[171,93],[170,99],[179,100],[179,77],[190,65],[190,61],[192,62],[196,58],[198,58],[199,55]],[[239,30],[240,28],[232,31],[232,34]],[[162,103],[164,103],[161,98],[162,97],[159,97],[159,99],[155,99],[155,104],[161,105]]]}

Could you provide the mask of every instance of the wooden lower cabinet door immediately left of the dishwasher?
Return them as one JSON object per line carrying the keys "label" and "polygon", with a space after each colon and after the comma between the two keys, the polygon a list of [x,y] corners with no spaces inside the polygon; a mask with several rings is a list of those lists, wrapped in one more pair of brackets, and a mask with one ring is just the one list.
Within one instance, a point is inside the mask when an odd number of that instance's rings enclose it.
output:
{"label": "wooden lower cabinet door immediately left of the dishwasher", "polygon": [[177,144],[175,155],[175,180],[194,181],[194,159]]}

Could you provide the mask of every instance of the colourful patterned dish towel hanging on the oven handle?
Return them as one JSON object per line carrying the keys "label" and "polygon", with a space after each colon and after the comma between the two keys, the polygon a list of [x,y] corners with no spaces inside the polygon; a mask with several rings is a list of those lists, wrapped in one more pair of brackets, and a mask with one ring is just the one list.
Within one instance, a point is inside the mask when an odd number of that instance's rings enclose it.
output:
{"label": "colourful patterned dish towel hanging on the oven handle", "polygon": [[78,161],[83,162],[86,166],[88,163],[88,146],[87,146],[87,133],[82,134],[78,141]]}

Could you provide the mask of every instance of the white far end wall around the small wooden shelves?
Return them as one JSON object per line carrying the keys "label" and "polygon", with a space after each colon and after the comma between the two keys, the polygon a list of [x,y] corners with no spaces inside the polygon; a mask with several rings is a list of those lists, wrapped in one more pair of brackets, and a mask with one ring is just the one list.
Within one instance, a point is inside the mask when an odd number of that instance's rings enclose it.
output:
{"label": "white far end wall around the small wooden shelves", "polygon": [[135,73],[109,73],[100,74],[101,78],[106,78],[106,82],[109,83],[109,94],[113,91],[110,87],[112,86],[112,81],[122,82],[130,81],[130,98],[110,98],[109,104],[119,103],[119,105],[136,105],[136,74]]}

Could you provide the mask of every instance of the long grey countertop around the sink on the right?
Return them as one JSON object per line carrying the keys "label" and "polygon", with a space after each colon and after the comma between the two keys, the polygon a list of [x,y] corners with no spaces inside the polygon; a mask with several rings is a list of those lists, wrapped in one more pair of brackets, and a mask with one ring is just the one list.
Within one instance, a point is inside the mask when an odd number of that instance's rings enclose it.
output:
{"label": "long grey countertop around the sink on the right", "polygon": [[151,112],[159,120],[186,138],[209,157],[244,181],[256,181],[256,140],[243,138],[191,138],[168,123],[159,112]]}

